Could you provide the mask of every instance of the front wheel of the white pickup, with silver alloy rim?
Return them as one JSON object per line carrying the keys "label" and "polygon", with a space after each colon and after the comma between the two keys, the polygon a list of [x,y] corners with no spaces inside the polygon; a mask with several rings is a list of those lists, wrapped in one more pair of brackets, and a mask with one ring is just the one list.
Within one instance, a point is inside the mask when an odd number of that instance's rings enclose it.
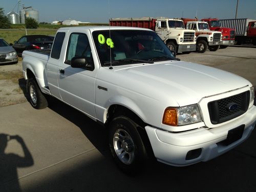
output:
{"label": "front wheel of the white pickup, with silver alloy rim", "polygon": [[117,166],[126,174],[135,174],[146,159],[146,150],[137,131],[138,125],[125,116],[110,123],[109,147]]}

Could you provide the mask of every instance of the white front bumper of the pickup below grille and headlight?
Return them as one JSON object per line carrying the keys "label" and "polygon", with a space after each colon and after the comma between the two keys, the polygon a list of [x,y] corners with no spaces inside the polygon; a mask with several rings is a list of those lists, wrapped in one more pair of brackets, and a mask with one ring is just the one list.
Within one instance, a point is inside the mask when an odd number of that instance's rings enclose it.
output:
{"label": "white front bumper of the pickup below grille and headlight", "polygon": [[[240,118],[213,129],[200,127],[182,133],[170,133],[151,126],[146,126],[145,129],[158,161],[174,166],[186,166],[208,161],[236,147],[250,136],[255,123],[256,106],[252,106]],[[242,124],[245,124],[242,138],[229,145],[223,144],[228,131]],[[201,153],[194,159],[186,160],[188,153],[193,150],[201,150]]]}

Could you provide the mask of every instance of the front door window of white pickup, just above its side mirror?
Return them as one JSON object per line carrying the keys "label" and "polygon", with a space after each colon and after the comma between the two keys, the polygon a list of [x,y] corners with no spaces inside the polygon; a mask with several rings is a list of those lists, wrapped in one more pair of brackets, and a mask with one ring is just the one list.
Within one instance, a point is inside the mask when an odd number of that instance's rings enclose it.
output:
{"label": "front door window of white pickup, just above its side mirror", "polygon": [[70,65],[73,57],[85,57],[88,63],[93,62],[91,47],[86,34],[72,33],[70,35],[65,63]]}

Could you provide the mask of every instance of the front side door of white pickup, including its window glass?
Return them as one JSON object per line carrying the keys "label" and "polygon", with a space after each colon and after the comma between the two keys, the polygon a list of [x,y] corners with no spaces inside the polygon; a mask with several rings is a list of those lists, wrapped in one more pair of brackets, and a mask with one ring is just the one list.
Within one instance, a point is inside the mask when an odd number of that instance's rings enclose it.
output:
{"label": "front side door of white pickup, including its window glass", "polygon": [[72,68],[73,57],[85,57],[94,65],[91,45],[85,33],[71,33],[69,36],[66,59],[60,62],[58,86],[63,101],[95,118],[95,79],[96,70]]}

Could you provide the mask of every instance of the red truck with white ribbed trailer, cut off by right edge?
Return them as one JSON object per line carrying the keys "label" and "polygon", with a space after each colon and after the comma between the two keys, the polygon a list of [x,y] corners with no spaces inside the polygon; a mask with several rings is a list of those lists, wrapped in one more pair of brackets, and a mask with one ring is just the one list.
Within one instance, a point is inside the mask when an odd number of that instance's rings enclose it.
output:
{"label": "red truck with white ribbed trailer, cut off by right edge", "polygon": [[256,19],[220,19],[221,26],[236,29],[235,44],[256,45]]}

